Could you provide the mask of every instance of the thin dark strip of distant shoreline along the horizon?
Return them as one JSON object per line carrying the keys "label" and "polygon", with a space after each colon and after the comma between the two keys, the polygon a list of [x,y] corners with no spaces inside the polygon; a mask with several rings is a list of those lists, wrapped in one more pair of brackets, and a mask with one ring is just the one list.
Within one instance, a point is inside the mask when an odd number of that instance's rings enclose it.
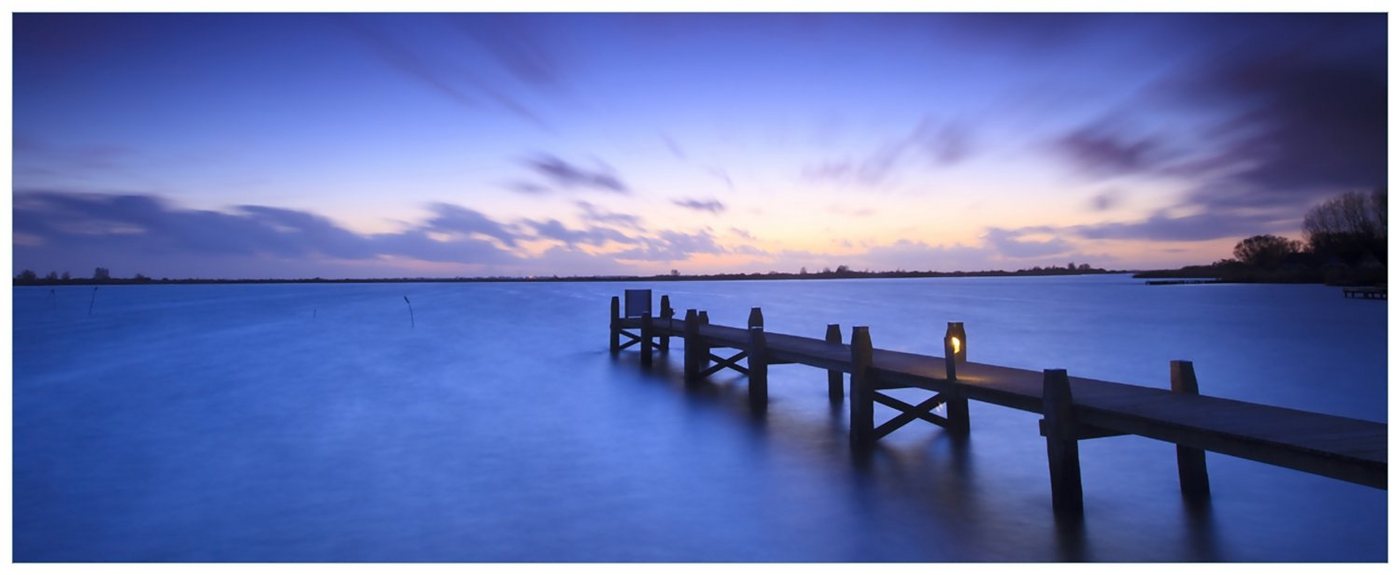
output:
{"label": "thin dark strip of distant shoreline along the horizon", "polygon": [[69,280],[14,280],[14,287],[57,287],[57,285],[218,285],[218,284],[483,284],[483,283],[596,283],[596,281],[753,281],[753,280],[875,280],[875,278],[918,278],[918,277],[1044,277],[1044,276],[1106,276],[1128,274],[1133,270],[1068,270],[1063,267],[1042,270],[986,270],[986,271],[818,271],[818,273],[752,273],[752,274],[707,274],[707,276],[550,276],[550,277],[389,277],[389,278],[69,278]]}

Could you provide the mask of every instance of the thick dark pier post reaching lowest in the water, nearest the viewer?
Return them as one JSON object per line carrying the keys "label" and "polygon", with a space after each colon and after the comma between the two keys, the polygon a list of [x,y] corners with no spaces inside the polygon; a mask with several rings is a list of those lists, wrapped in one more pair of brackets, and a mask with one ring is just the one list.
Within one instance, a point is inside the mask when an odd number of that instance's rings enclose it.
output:
{"label": "thick dark pier post reaching lowest in the water, nearest the viewer", "polygon": [[1044,371],[1046,455],[1050,457],[1050,497],[1056,515],[1084,515],[1084,485],[1079,478],[1079,441],[1075,439],[1074,396],[1064,369]]}

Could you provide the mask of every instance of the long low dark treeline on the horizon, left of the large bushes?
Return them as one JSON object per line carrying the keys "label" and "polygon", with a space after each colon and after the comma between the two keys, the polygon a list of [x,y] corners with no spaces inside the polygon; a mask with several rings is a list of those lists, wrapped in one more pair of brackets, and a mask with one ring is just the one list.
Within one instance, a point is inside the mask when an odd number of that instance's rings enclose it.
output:
{"label": "long low dark treeline on the horizon, left of the large bushes", "polygon": [[[98,269],[106,271],[105,269]],[[34,271],[25,270],[20,276],[15,276],[15,285],[148,285],[148,284],[392,284],[392,283],[507,283],[507,281],[736,281],[736,280],[846,280],[846,278],[895,278],[895,277],[1015,277],[1015,276],[1078,276],[1078,274],[1106,274],[1106,273],[1127,273],[1123,270],[1110,271],[1100,267],[1091,267],[1089,264],[1075,266],[1070,263],[1067,267],[1032,267],[1016,271],[1005,270],[984,270],[984,271],[858,271],[851,270],[847,266],[839,266],[836,270],[822,270],[822,271],[766,271],[766,273],[734,273],[734,274],[680,274],[672,271],[671,274],[658,276],[533,276],[533,277],[395,277],[395,278],[337,278],[328,280],[321,277],[311,278],[297,278],[297,280],[209,280],[209,278],[178,278],[172,280],[168,277],[151,278],[143,274],[136,274],[129,278],[111,277],[111,273],[95,273],[94,277],[70,277],[69,274],[53,274],[46,277],[38,277]]]}

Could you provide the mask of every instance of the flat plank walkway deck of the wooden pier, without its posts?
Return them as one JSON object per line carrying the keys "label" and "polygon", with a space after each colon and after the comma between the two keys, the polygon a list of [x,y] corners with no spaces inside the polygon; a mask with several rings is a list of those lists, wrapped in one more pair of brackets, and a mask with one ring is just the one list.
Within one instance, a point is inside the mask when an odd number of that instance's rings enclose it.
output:
{"label": "flat plank walkway deck of the wooden pier, without its posts", "polygon": [[[640,329],[643,322],[640,318],[616,318],[610,323],[620,340],[633,337],[623,329]],[[701,318],[693,323],[692,329],[689,313],[686,320],[654,319],[650,332],[654,337],[689,336],[687,350],[696,347],[703,351],[696,358],[699,361],[708,360],[710,347],[749,350],[753,346],[746,329],[710,325]],[[692,337],[696,339],[694,346]],[[805,364],[827,369],[832,395],[830,375],[857,369],[853,347],[837,341],[764,332],[766,365]],[[696,361],[690,358],[687,354],[687,374],[689,364]],[[949,378],[944,358],[874,347],[865,365],[864,381],[871,393],[875,389],[920,388],[1023,411],[1044,410],[1042,372],[959,362],[955,378]],[[1068,382],[1075,421],[1105,434],[1127,432],[1180,448],[1386,487],[1386,424],[1088,378],[1068,378]],[[872,406],[874,399],[855,402],[853,392],[853,439],[868,435],[857,431],[855,424],[864,425],[864,414],[857,413],[855,403]],[[872,427],[874,421],[865,431],[872,432]]]}

